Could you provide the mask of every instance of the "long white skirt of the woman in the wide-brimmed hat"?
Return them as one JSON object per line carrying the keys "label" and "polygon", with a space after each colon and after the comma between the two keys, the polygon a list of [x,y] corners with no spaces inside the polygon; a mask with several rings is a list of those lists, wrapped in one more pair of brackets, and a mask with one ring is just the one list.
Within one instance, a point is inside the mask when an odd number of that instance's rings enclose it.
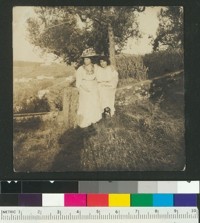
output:
{"label": "long white skirt of the woman in the wide-brimmed hat", "polygon": [[97,84],[88,81],[85,85],[89,92],[79,89],[78,125],[81,128],[98,122],[102,117]]}

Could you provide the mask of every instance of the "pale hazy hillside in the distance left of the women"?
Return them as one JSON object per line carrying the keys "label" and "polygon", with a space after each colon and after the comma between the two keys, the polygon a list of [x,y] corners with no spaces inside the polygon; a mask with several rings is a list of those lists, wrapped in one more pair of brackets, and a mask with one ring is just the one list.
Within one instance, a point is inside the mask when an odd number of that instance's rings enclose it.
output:
{"label": "pale hazy hillside in the distance left of the women", "polygon": [[[48,66],[40,66],[41,63],[22,62],[14,63],[14,78],[33,78],[33,80],[20,83],[14,82],[13,84],[13,104],[14,107],[26,107],[27,99],[37,98],[38,91],[49,89],[49,97],[52,101],[58,102],[60,107],[63,95],[63,89],[67,86],[66,77],[74,74],[74,68],[61,64],[52,64]],[[38,80],[37,76],[50,76],[51,79]],[[50,103],[50,107],[53,103]],[[55,106],[54,106],[55,107]],[[24,112],[24,111],[22,111]],[[34,111],[32,111],[34,112]]]}

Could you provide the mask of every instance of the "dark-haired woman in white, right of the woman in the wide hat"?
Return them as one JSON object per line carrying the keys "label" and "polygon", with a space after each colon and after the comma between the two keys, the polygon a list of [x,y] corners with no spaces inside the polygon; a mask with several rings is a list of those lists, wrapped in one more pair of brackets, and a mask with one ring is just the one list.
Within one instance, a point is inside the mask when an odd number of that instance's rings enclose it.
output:
{"label": "dark-haired woman in white, right of the woman in the wide hat", "polygon": [[118,72],[110,65],[108,57],[100,58],[101,68],[97,72],[101,112],[110,108],[111,116],[115,113],[115,92],[118,84]]}

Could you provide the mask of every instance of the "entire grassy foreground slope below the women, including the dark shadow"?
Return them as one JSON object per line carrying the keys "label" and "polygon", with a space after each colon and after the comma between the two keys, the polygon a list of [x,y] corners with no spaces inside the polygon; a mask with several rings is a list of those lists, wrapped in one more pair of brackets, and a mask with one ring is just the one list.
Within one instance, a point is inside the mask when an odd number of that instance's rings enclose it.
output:
{"label": "entire grassy foreground slope below the women, including the dark shadow", "polygon": [[63,132],[56,120],[17,127],[15,170],[181,170],[185,163],[183,80],[159,85],[162,90],[150,100],[120,106],[112,119],[92,128]]}

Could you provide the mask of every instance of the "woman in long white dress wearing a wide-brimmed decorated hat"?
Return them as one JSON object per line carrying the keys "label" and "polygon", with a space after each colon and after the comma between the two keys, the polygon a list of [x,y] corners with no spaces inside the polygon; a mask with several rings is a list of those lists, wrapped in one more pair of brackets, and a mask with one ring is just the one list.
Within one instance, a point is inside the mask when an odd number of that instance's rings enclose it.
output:
{"label": "woman in long white dress wearing a wide-brimmed decorated hat", "polygon": [[79,89],[78,125],[81,128],[98,122],[102,117],[96,79],[99,66],[92,63],[95,56],[93,49],[85,50],[81,56],[84,64],[76,72],[76,87]]}

